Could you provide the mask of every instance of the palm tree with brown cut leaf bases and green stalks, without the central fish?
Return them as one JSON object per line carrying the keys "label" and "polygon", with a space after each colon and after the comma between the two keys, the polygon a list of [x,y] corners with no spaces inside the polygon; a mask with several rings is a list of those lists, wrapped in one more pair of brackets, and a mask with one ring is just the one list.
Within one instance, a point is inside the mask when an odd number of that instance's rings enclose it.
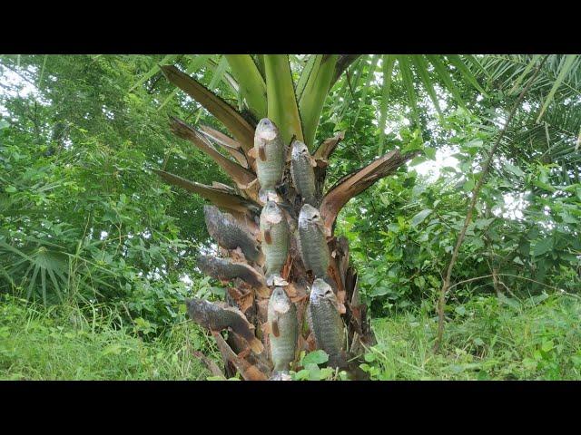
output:
{"label": "palm tree with brown cut leaf bases and green stalks, without the central fish", "polygon": [[[229,375],[239,371],[244,379],[249,380],[268,379],[271,376],[273,364],[269,343],[273,332],[268,305],[272,289],[276,286],[284,288],[291,304],[295,306],[293,312],[297,316],[296,327],[300,329],[295,354],[298,349],[308,351],[321,345],[311,334],[311,326],[302,328],[307,317],[310,286],[316,277],[324,277],[335,295],[335,306],[345,325],[347,354],[356,356],[362,345],[373,343],[365,306],[359,303],[357,272],[350,266],[349,245],[346,239],[333,236],[335,219],[350,198],[369,188],[378,179],[393,173],[415,154],[402,155],[399,150],[390,150],[323,192],[330,158],[344,133],[316,142],[320,114],[330,88],[358,57],[312,55],[295,83],[286,55],[225,55],[224,59],[231,70],[231,81],[235,81],[243,97],[242,111],[234,109],[175,66],[162,66],[162,72],[170,82],[200,102],[231,133],[228,136],[205,125],[196,128],[178,119],[172,119],[171,122],[172,131],[212,157],[230,176],[235,187],[218,183],[202,185],[162,170],[157,171],[166,181],[201,195],[217,207],[206,207],[204,211],[209,232],[218,242],[222,258],[200,256],[199,266],[214,278],[234,285],[228,289],[227,301],[236,308],[235,313],[243,319],[242,324],[248,324],[262,343],[256,346],[252,337],[245,336],[242,331],[244,328],[237,329],[232,324],[234,321],[216,324],[208,322],[207,316],[193,316],[194,320],[212,330],[222,353],[225,371]],[[261,121],[261,125],[271,122],[278,129],[283,150],[286,150],[278,157],[267,152],[265,163],[261,161],[265,156],[260,156],[258,149],[254,150],[255,139],[260,135],[260,131],[257,131],[259,120],[268,120]],[[314,179],[314,197],[318,199],[310,202],[320,213],[320,236],[325,243],[321,249],[328,250],[321,255],[327,256],[329,260],[328,270],[324,271],[323,276],[307,269],[303,261],[307,248],[300,249],[298,219],[300,210],[306,206],[293,180],[295,178],[291,176],[291,142],[306,145],[308,161],[312,164],[310,170]],[[290,248],[283,265],[278,266],[274,273],[269,270],[267,275],[266,264],[269,263],[271,251],[266,249],[265,244],[271,236],[270,233],[265,234],[267,230],[261,227],[261,209],[268,198],[260,195],[260,165],[271,164],[271,160],[277,158],[282,159],[283,173],[276,186],[275,195],[278,198],[275,202],[278,204],[276,208],[288,220],[290,231],[286,237]],[[296,176],[296,171],[292,175]],[[302,193],[304,195],[304,191]],[[251,237],[254,247],[260,251],[258,255],[251,255],[251,249],[246,248],[245,241],[241,241],[243,236],[228,238],[228,227],[238,228],[241,231],[237,234]],[[213,308],[227,311],[229,307],[216,305]],[[226,328],[231,332],[228,340],[224,341],[219,330]],[[261,352],[262,349],[265,351]]]}

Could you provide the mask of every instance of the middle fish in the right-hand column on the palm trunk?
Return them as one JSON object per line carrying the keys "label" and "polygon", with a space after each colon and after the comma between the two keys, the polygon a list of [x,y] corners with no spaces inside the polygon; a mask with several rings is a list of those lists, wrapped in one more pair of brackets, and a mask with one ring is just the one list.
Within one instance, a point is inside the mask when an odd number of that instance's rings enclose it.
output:
{"label": "middle fish in the right-hand column on the palm trunk", "polygon": [[327,237],[319,210],[310,204],[300,208],[297,242],[305,269],[317,278],[326,276],[330,264]]}

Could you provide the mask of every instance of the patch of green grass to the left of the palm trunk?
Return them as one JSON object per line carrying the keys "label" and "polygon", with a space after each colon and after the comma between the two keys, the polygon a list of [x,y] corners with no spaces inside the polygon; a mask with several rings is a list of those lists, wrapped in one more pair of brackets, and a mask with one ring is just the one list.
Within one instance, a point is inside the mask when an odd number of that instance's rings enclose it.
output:
{"label": "patch of green grass to the left of the palm trunk", "polygon": [[191,322],[143,341],[134,327],[101,307],[44,309],[0,300],[2,380],[201,380],[210,375],[192,351],[212,353]]}

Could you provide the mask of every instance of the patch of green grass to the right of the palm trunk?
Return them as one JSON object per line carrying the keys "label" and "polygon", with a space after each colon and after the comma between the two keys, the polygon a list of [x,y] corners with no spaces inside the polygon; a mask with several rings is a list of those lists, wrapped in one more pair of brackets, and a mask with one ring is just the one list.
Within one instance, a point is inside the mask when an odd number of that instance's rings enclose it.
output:
{"label": "patch of green grass to the right of the palm trunk", "polygon": [[375,380],[579,380],[580,314],[571,295],[477,297],[448,314],[438,354],[437,319],[426,312],[378,319],[365,370]]}

